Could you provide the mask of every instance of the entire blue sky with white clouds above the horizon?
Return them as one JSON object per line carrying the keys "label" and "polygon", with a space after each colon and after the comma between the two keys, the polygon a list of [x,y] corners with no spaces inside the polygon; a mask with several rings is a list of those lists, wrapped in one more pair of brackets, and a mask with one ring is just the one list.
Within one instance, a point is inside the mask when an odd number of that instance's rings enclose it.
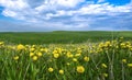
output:
{"label": "entire blue sky with white clouds above the horizon", "polygon": [[132,0],[0,0],[0,32],[132,31]]}

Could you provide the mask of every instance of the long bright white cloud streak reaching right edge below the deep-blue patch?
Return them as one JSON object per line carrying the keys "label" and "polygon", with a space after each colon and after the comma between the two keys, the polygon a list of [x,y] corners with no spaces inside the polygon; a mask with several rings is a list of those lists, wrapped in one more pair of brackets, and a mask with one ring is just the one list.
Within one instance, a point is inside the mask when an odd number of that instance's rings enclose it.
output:
{"label": "long bright white cloud streak reaching right edge below the deep-blue patch", "polygon": [[121,5],[121,7],[114,7],[109,3],[103,3],[103,4],[88,4],[84,5],[78,10],[59,10],[56,11],[56,13],[47,13],[46,16],[48,19],[53,16],[62,16],[62,15],[88,15],[88,14],[106,14],[106,15],[118,15],[120,13],[129,13],[132,12],[132,7],[130,4],[127,5]]}

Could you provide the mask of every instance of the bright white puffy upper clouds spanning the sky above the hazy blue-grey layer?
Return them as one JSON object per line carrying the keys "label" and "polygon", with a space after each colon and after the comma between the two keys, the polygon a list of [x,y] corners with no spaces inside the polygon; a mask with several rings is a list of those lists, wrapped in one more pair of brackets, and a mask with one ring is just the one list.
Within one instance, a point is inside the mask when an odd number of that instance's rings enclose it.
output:
{"label": "bright white puffy upper clouds spanning the sky above the hazy blue-grey layer", "polygon": [[[85,4],[78,9],[77,4],[84,2],[84,0],[44,0],[40,5],[32,8],[31,0],[1,0],[0,4],[6,7],[3,15],[12,16],[20,20],[26,20],[30,16],[31,20],[37,19],[51,19],[63,15],[84,15],[84,14],[116,14],[120,12],[131,12],[132,5],[112,5],[107,3],[103,4]],[[34,3],[36,0],[34,0]],[[38,1],[37,1],[38,2]],[[102,0],[99,2],[102,2]],[[61,8],[65,7],[65,8]],[[69,9],[67,9],[69,8]],[[33,19],[31,18],[33,16]]]}

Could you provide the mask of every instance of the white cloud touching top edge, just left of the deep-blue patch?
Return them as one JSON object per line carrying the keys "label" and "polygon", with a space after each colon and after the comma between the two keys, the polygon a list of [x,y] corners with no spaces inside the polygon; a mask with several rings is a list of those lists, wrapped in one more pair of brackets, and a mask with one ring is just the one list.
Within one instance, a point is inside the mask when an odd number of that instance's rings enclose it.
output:
{"label": "white cloud touching top edge, just left of the deep-blue patch", "polygon": [[85,0],[44,0],[44,2],[36,7],[35,10],[55,10],[65,8],[76,8],[79,3],[85,2]]}

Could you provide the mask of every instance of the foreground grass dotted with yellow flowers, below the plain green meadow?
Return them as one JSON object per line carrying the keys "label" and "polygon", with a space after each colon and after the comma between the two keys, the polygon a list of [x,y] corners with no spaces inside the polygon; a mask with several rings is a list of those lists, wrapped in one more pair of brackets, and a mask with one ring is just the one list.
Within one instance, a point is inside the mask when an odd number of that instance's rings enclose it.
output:
{"label": "foreground grass dotted with yellow flowers, below the plain green meadow", "polygon": [[122,37],[85,44],[0,42],[0,80],[132,80],[131,76],[132,43]]}

